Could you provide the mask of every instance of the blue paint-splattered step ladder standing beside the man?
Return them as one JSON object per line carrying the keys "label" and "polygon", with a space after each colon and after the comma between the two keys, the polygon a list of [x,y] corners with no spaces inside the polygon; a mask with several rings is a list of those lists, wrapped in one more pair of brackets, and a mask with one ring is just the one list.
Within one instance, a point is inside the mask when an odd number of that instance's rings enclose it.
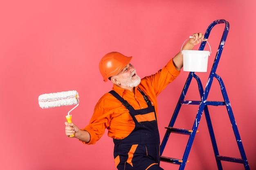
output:
{"label": "blue paint-splattered step ladder standing beside the man", "polygon": [[[236,120],[234,118],[234,114],[233,114],[232,109],[231,109],[229,98],[227,96],[227,91],[225,89],[222,78],[219,75],[216,74],[216,69],[217,69],[218,63],[220,61],[220,55],[221,55],[222,50],[224,48],[224,44],[225,44],[225,41],[226,41],[226,38],[227,38],[227,34],[229,32],[229,22],[227,22],[226,20],[216,20],[216,21],[212,22],[210,24],[210,26],[207,28],[207,31],[206,31],[204,37],[206,39],[208,39],[209,34],[211,32],[211,29],[217,24],[225,24],[225,29],[224,29],[224,32],[222,34],[222,38],[221,38],[221,41],[220,41],[220,45],[218,47],[216,58],[214,60],[213,66],[211,68],[211,73],[209,75],[207,85],[206,85],[205,89],[203,89],[200,78],[195,74],[195,72],[190,72],[189,73],[189,76],[186,80],[183,91],[181,93],[181,96],[178,100],[177,106],[176,106],[175,111],[173,113],[173,116],[171,118],[170,124],[169,124],[168,127],[166,127],[166,133],[164,135],[164,139],[163,139],[162,144],[161,144],[161,148],[160,148],[160,159],[161,159],[161,161],[168,162],[168,163],[175,163],[175,164],[180,166],[179,170],[184,170],[184,168],[186,166],[186,163],[188,162],[189,152],[191,150],[191,146],[192,146],[193,140],[195,138],[195,134],[198,132],[197,129],[198,129],[198,125],[199,125],[200,119],[202,117],[203,111],[204,111],[204,114],[205,114],[205,117],[206,117],[207,126],[208,126],[208,129],[209,129],[209,133],[210,133],[210,137],[211,137],[211,143],[212,143],[212,146],[213,146],[213,152],[215,154],[215,159],[216,159],[216,162],[217,162],[218,170],[222,170],[221,161],[229,161],[229,162],[234,162],[234,163],[243,163],[244,167],[245,167],[245,170],[250,169],[247,158],[246,158],[246,155],[245,155],[245,150],[243,148],[243,144],[242,144],[239,132],[238,132],[238,128],[237,128],[237,125],[236,125]],[[204,50],[205,44],[206,44],[206,41],[203,41],[200,45],[199,50]],[[188,91],[188,88],[189,88],[189,85],[191,83],[192,78],[195,78],[195,80],[198,83],[199,93],[200,93],[200,97],[202,99],[200,101],[184,100],[184,98],[186,96],[186,92]],[[220,89],[221,89],[221,92],[222,92],[224,102],[208,101],[207,100],[207,97],[208,97],[208,94],[209,94],[209,91],[210,91],[210,88],[211,88],[211,85],[212,85],[212,82],[213,82],[213,78],[216,78],[218,80],[218,82],[220,83]],[[198,109],[198,112],[196,114],[195,121],[194,121],[194,124],[193,124],[193,127],[192,127],[191,130],[173,128],[173,125],[175,123],[175,120],[178,116],[178,113],[179,113],[180,108],[181,108],[182,105],[199,105],[199,109]],[[240,151],[241,159],[240,158],[234,158],[234,157],[225,157],[225,156],[221,156],[219,154],[216,139],[215,139],[215,136],[214,136],[214,133],[213,133],[213,126],[211,124],[211,118],[210,118],[210,114],[209,114],[209,110],[208,110],[208,105],[226,106],[227,112],[229,114],[229,119],[231,121],[232,128],[233,128],[233,131],[234,131],[234,134],[235,134],[235,137],[236,137],[238,148],[239,148],[239,151]],[[179,134],[189,135],[188,143],[186,145],[185,152],[184,152],[184,155],[183,155],[182,159],[175,159],[175,158],[171,158],[171,157],[162,156],[164,148],[166,146],[166,143],[167,143],[168,138],[169,138],[171,133],[179,133]]]}

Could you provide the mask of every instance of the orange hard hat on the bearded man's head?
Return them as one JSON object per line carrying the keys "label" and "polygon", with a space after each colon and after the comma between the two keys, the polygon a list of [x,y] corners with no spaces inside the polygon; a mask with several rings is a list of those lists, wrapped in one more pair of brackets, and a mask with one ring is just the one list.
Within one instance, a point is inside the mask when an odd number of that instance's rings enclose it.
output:
{"label": "orange hard hat on the bearded man's head", "polygon": [[117,75],[131,61],[132,57],[126,57],[119,52],[109,52],[99,62],[99,71],[106,82],[111,76]]}

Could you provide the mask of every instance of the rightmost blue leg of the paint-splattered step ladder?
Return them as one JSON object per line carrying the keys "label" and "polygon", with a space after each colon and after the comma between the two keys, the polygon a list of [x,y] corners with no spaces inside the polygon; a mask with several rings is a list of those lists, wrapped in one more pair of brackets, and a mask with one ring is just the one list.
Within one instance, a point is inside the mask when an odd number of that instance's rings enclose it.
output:
{"label": "rightmost blue leg of the paint-splattered step ladder", "polygon": [[238,132],[238,127],[237,127],[237,124],[236,124],[236,120],[235,120],[233,111],[231,109],[231,104],[230,104],[229,98],[227,96],[227,91],[226,91],[224,82],[222,81],[222,78],[220,76],[218,76],[217,74],[215,74],[215,77],[218,79],[218,81],[220,83],[222,96],[225,100],[227,112],[229,114],[229,119],[231,121],[232,129],[233,129],[235,137],[236,137],[236,142],[237,142],[237,145],[238,145],[238,149],[240,151],[240,155],[243,159],[243,164],[245,166],[245,170],[249,170],[250,169],[249,168],[249,163],[248,163],[247,157],[245,155],[245,149],[243,148],[242,140],[241,140],[241,137],[240,137],[239,132]]}

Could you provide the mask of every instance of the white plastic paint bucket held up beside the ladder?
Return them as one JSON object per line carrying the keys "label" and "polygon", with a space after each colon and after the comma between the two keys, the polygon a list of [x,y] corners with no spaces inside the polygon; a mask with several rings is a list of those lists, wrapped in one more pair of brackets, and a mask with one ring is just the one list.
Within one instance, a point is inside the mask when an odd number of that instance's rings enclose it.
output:
{"label": "white plastic paint bucket held up beside the ladder", "polygon": [[183,71],[207,72],[208,57],[211,54],[210,51],[182,50],[182,54],[183,54]]}

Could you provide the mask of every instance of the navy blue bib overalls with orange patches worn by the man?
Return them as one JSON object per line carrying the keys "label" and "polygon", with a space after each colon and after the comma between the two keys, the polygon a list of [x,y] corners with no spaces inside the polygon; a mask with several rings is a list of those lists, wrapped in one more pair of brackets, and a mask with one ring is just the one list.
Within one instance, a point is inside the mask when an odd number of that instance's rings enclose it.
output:
{"label": "navy blue bib overalls with orange patches worn by the man", "polygon": [[118,170],[163,170],[159,167],[160,137],[155,107],[151,105],[148,96],[139,91],[148,105],[139,110],[135,110],[117,92],[109,92],[126,106],[135,122],[135,129],[130,135],[124,139],[113,139],[115,164]]}

